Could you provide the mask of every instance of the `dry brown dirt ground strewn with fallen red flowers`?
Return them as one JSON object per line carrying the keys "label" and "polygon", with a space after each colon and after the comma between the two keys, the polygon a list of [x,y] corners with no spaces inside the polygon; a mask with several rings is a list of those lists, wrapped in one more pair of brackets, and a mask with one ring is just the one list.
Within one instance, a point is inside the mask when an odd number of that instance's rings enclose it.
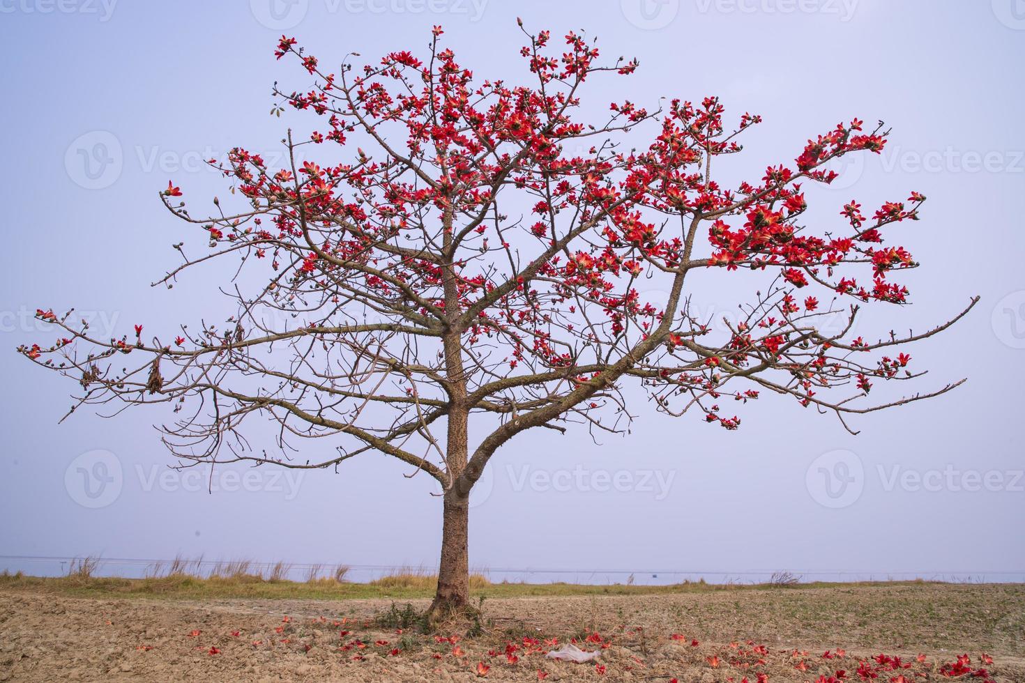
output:
{"label": "dry brown dirt ground strewn with fallen red flowers", "polygon": [[[0,681],[1025,682],[1025,586],[486,600],[480,629],[432,635],[391,606],[4,588]],[[544,656],[574,640],[601,655]]]}

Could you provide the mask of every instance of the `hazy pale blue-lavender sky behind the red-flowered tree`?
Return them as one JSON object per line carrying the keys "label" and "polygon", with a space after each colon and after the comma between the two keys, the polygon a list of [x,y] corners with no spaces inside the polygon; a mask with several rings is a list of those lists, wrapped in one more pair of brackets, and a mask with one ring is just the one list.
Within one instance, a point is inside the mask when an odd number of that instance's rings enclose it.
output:
{"label": "hazy pale blue-lavender sky behind the red-flowered tree", "polygon": [[[176,263],[172,243],[197,240],[157,193],[174,179],[190,196],[222,195],[201,160],[235,145],[273,154],[287,126],[317,125],[269,116],[274,81],[306,85],[294,62],[273,56],[282,33],[336,63],[351,51],[422,53],[441,24],[480,77],[526,80],[517,14],[640,59],[633,77],[589,89],[598,110],[614,98],[715,94],[736,116],[761,114],[731,162],[736,177],[760,178],[839,121],[886,120],[894,133],[881,157],[810,195],[830,219],[852,197],[866,207],[912,189],[929,197],[924,220],[901,227],[922,263],[904,281],[914,305],[868,306],[859,334],[921,331],[970,295],[982,302],[911,349],[932,371],[920,389],[969,382],[856,418],[858,436],[833,417],[766,401],[737,432],[639,403],[623,438],[520,437],[475,493],[471,565],[600,582],[623,580],[615,570],[664,580],[774,569],[1025,580],[1022,0],[0,0],[11,240],[0,250],[0,554],[437,563],[440,500],[397,461],[363,456],[337,474],[183,476],[167,468],[158,413],[81,412],[58,426],[75,385],[14,348],[51,339],[37,307],[75,306],[117,336],[137,322],[222,314],[213,271],[172,291],[149,287]],[[695,293],[704,310],[739,302],[705,282]]]}

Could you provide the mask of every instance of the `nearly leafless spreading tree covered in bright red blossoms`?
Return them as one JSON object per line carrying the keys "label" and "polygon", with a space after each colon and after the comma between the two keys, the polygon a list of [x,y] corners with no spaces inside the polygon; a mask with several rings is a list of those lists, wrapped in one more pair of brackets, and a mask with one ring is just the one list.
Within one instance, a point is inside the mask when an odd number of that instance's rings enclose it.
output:
{"label": "nearly leafless spreading tree covered in bright red blossoms", "polygon": [[[803,185],[830,183],[827,165],[845,155],[878,154],[881,123],[837,125],[729,188],[714,162],[740,152],[737,136],[760,117],[728,127],[708,97],[652,112],[617,102],[588,124],[585,82],[631,74],[636,60],[602,66],[594,43],[573,33],[560,54],[547,32],[525,31],[534,84],[512,86],[475,80],[441,35],[436,27],[425,61],[400,51],[332,73],[282,37],[278,58],[300,60],[314,83],[275,85],[273,113],[312,110],[321,130],[301,141],[289,131],[279,168],[242,148],[212,160],[234,183],[234,209],[215,198],[213,215],[198,218],[173,182],[161,193],[205,230],[209,250],[175,245],[181,263],[155,285],[223,263],[237,314],[182,326],[170,342],[146,340],[141,326],[133,338],[98,339],[71,311],[40,309],[68,336],[19,350],[80,382],[72,411],[171,403],[182,417],[163,440],[182,466],[323,469],[379,452],[407,464],[407,476],[434,477],[444,512],[437,614],[467,601],[467,499],[498,449],[533,428],[620,432],[628,384],[658,411],[693,410],[728,430],[740,418],[723,401],[746,404],[764,390],[850,429],[846,416],[960,384],[867,399],[873,383],[920,376],[901,345],[950,326],[977,298],[924,333],[851,339],[859,304],[907,302],[892,276],[917,263],[884,232],[917,220],[926,198],[870,214],[852,201],[828,221],[836,225],[805,224]],[[345,162],[302,159],[357,144]],[[691,308],[695,270],[749,270],[762,287],[716,330]],[[647,279],[663,283],[663,300],[641,299]],[[797,294],[806,288],[832,299]],[[837,311],[846,324],[825,329]],[[276,421],[274,453],[245,438],[250,416]],[[292,460],[292,437],[327,437],[336,451]]]}

